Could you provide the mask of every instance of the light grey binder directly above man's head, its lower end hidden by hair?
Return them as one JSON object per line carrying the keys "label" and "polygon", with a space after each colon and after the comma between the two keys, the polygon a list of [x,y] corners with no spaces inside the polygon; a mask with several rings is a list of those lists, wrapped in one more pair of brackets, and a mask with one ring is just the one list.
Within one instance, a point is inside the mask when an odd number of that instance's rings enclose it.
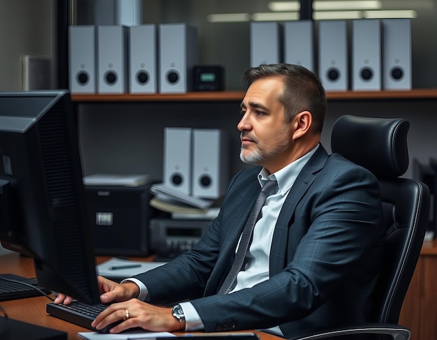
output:
{"label": "light grey binder directly above man's head, its lower end hidden by hair", "polygon": [[313,21],[288,21],[283,25],[284,62],[315,72]]}

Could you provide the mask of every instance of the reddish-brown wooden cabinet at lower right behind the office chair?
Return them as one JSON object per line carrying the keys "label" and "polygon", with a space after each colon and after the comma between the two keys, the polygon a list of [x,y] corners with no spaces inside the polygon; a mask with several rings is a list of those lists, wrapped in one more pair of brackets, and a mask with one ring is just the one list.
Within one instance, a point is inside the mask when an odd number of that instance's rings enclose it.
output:
{"label": "reddish-brown wooden cabinet at lower right behind the office chair", "polygon": [[424,242],[413,279],[403,301],[399,324],[411,340],[437,339],[437,240]]}

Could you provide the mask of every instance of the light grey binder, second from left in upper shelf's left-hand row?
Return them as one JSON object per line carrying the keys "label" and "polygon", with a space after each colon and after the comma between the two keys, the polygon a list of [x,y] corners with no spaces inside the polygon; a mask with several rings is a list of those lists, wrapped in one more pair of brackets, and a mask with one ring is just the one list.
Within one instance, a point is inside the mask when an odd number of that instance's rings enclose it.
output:
{"label": "light grey binder, second from left in upper shelf's left-hand row", "polygon": [[124,94],[128,91],[128,27],[97,27],[97,91]]}

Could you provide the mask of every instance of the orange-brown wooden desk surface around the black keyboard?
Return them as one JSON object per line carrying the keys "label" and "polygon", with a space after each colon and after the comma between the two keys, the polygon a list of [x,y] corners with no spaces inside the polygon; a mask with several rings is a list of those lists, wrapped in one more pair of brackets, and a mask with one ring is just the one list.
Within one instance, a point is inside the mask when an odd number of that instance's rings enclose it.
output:
{"label": "orange-brown wooden desk surface around the black keyboard", "polygon": [[[98,257],[101,263],[109,257]],[[0,273],[12,273],[24,277],[35,277],[34,262],[31,258],[19,256],[17,253],[7,253],[0,256]],[[86,328],[73,325],[64,320],[54,318],[45,313],[45,305],[50,302],[47,297],[30,297],[27,299],[1,302],[1,306],[8,313],[9,318],[61,330],[68,333],[68,340],[82,339],[77,332],[87,332]],[[272,334],[257,332],[261,340],[279,340]]]}

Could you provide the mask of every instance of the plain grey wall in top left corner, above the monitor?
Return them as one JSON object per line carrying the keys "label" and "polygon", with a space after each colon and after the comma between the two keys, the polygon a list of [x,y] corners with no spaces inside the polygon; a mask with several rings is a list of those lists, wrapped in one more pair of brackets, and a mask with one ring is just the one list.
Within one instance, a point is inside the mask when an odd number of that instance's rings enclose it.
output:
{"label": "plain grey wall in top left corner, above the monitor", "polygon": [[22,90],[22,56],[50,56],[51,3],[0,0],[0,91]]}

